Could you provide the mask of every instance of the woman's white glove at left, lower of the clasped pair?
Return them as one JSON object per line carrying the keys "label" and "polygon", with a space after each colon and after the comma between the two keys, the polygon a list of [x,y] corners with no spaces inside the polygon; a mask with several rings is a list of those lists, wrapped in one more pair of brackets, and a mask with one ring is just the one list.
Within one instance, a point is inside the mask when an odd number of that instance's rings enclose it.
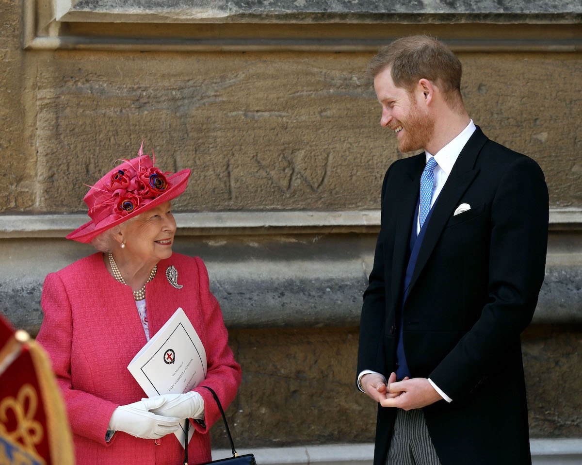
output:
{"label": "woman's white glove at left, lower of the clasped pair", "polygon": [[[150,403],[152,407],[161,404]],[[178,431],[180,418],[163,417],[148,411],[148,408],[140,400],[133,404],[117,407],[111,415],[108,429],[123,431],[136,438],[159,439],[166,434]]]}

